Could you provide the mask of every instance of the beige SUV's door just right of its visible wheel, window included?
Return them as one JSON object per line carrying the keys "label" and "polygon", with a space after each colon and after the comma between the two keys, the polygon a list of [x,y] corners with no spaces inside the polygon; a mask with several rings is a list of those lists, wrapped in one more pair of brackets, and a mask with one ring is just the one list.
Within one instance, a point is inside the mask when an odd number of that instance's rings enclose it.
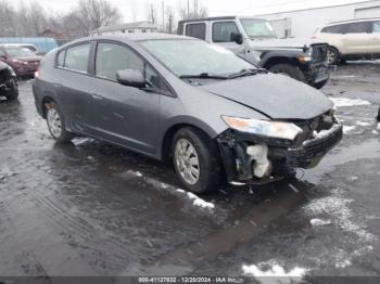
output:
{"label": "beige SUV's door just right of its visible wheel, window included", "polygon": [[344,27],[344,36],[342,42],[345,47],[346,54],[368,54],[371,23],[358,22],[346,24]]}

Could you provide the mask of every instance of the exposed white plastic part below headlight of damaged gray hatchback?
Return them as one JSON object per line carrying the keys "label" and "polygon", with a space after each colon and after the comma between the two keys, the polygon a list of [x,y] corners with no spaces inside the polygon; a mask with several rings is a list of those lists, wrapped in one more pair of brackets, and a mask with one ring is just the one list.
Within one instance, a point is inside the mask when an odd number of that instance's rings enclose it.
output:
{"label": "exposed white plastic part below headlight of damaged gray hatchback", "polygon": [[256,178],[264,178],[270,175],[271,163],[268,159],[268,146],[266,144],[257,144],[246,147],[246,154],[254,160],[253,175]]}

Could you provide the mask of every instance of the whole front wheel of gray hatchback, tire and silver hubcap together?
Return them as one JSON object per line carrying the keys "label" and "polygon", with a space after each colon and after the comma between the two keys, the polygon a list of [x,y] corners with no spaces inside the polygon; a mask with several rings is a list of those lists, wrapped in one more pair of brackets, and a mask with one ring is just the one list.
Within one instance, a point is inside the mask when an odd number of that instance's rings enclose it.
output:
{"label": "whole front wheel of gray hatchback, tire and silver hubcap together", "polygon": [[220,156],[215,144],[202,131],[186,127],[174,135],[173,164],[181,183],[191,192],[217,190],[221,182]]}

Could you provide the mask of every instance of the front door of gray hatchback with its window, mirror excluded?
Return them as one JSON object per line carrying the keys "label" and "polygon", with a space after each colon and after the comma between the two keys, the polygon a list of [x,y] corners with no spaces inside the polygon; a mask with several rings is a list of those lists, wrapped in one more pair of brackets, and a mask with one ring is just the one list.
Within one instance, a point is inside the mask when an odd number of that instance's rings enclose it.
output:
{"label": "front door of gray hatchback with its window, mirror excluded", "polygon": [[96,135],[147,154],[156,151],[161,94],[123,86],[116,72],[136,69],[157,88],[157,73],[128,46],[99,41],[92,87],[92,119]]}

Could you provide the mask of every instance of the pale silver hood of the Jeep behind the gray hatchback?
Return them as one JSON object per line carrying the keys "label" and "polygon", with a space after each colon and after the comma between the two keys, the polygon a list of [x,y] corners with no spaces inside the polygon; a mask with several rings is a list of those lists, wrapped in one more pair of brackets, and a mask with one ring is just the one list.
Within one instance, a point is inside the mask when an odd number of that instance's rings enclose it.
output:
{"label": "pale silver hood of the Jeep behind the gray hatchback", "polygon": [[284,38],[284,39],[253,39],[250,40],[252,48],[279,48],[279,49],[303,49],[305,46],[311,47],[312,43],[317,43],[308,38]]}

